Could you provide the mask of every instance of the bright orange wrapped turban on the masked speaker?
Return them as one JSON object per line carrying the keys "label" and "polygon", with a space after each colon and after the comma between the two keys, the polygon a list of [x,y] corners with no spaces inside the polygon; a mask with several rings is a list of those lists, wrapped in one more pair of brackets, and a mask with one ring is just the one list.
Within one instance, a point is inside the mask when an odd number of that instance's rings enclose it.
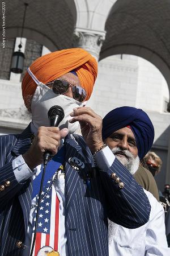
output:
{"label": "bright orange wrapped turban on the masked speaker", "polygon": [[[36,79],[44,84],[74,69],[81,86],[86,90],[86,100],[91,96],[97,76],[97,62],[95,58],[81,48],[63,49],[48,53],[35,60],[29,69]],[[26,106],[27,96],[33,96],[36,87],[36,82],[26,72],[22,81],[22,93]]]}

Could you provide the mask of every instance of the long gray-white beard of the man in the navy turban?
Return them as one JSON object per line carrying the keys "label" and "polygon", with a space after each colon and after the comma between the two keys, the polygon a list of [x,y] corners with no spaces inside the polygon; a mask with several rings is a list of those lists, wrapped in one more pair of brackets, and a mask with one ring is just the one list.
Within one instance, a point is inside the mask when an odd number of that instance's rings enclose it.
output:
{"label": "long gray-white beard of the man in the navy turban", "polygon": [[[133,154],[129,150],[122,150],[120,147],[112,148],[113,154],[115,154],[116,158],[126,167],[126,169],[133,175],[139,168],[139,156],[134,158]],[[125,154],[125,157],[117,156],[117,152],[122,152]],[[127,157],[126,157],[127,156]],[[116,236],[118,229],[118,225],[111,220],[108,220],[108,236],[109,236],[109,244],[112,242],[112,238]]]}

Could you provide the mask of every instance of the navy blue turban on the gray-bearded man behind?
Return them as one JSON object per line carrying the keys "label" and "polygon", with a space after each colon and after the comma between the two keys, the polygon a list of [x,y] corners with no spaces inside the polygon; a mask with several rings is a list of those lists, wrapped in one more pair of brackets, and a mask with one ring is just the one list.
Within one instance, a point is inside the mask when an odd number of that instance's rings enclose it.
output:
{"label": "navy blue turban on the gray-bearded man behind", "polygon": [[148,115],[142,109],[128,106],[113,109],[103,118],[103,139],[108,138],[114,131],[130,126],[133,131],[138,156],[142,159],[154,142],[154,126]]}

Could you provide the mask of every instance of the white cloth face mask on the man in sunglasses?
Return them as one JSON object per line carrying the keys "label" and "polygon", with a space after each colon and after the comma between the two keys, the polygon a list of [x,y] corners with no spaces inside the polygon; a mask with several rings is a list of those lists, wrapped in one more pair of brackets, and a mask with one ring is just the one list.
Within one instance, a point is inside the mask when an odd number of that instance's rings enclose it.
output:
{"label": "white cloth face mask on the man in sunglasses", "polygon": [[42,82],[37,85],[31,104],[32,122],[35,127],[49,127],[48,110],[54,105],[61,106],[65,112],[65,117],[59,123],[59,129],[66,127],[69,129],[69,134],[74,133],[78,129],[79,122],[70,123],[70,113],[73,112],[74,108],[84,105],[84,102],[76,101],[65,95],[58,95]]}

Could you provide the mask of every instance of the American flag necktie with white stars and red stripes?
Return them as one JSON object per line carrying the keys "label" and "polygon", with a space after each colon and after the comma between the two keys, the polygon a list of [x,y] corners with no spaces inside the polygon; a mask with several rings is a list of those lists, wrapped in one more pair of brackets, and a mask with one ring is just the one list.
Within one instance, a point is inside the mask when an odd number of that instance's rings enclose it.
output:
{"label": "American flag necktie with white stars and red stripes", "polygon": [[[42,251],[45,253],[52,253],[50,255],[59,255],[57,252],[58,250],[58,226],[59,226],[59,200],[56,195],[56,190],[54,188],[54,180],[58,176],[58,171],[63,171],[63,166],[61,163],[63,162],[61,155],[64,155],[64,150],[61,149],[62,154],[60,152],[59,154],[59,161],[58,156],[50,160],[46,167],[45,172],[45,183],[44,188],[41,193],[41,203],[39,208],[39,216],[38,222],[37,222],[37,232],[36,232],[36,240],[35,240],[35,246],[33,249],[33,256],[39,256],[39,255],[47,255],[42,254]],[[57,154],[58,155],[58,154]],[[60,164],[59,164],[60,163]],[[59,168],[58,168],[59,166]],[[53,170],[57,171],[56,174]],[[33,196],[35,195],[35,191],[37,191],[37,187],[39,187],[39,177],[41,176],[42,168],[40,174],[36,177],[33,182]],[[50,180],[47,179],[49,177],[49,173],[53,174],[50,178]],[[48,180],[48,182],[47,182]],[[36,196],[36,202],[39,199],[38,196]],[[35,205],[36,206],[36,205]],[[34,218],[33,218],[33,233],[32,233],[32,242],[33,242],[33,236],[34,236],[34,230],[35,230],[35,221],[36,221],[36,208],[34,212]],[[32,246],[31,246],[32,247]]]}

